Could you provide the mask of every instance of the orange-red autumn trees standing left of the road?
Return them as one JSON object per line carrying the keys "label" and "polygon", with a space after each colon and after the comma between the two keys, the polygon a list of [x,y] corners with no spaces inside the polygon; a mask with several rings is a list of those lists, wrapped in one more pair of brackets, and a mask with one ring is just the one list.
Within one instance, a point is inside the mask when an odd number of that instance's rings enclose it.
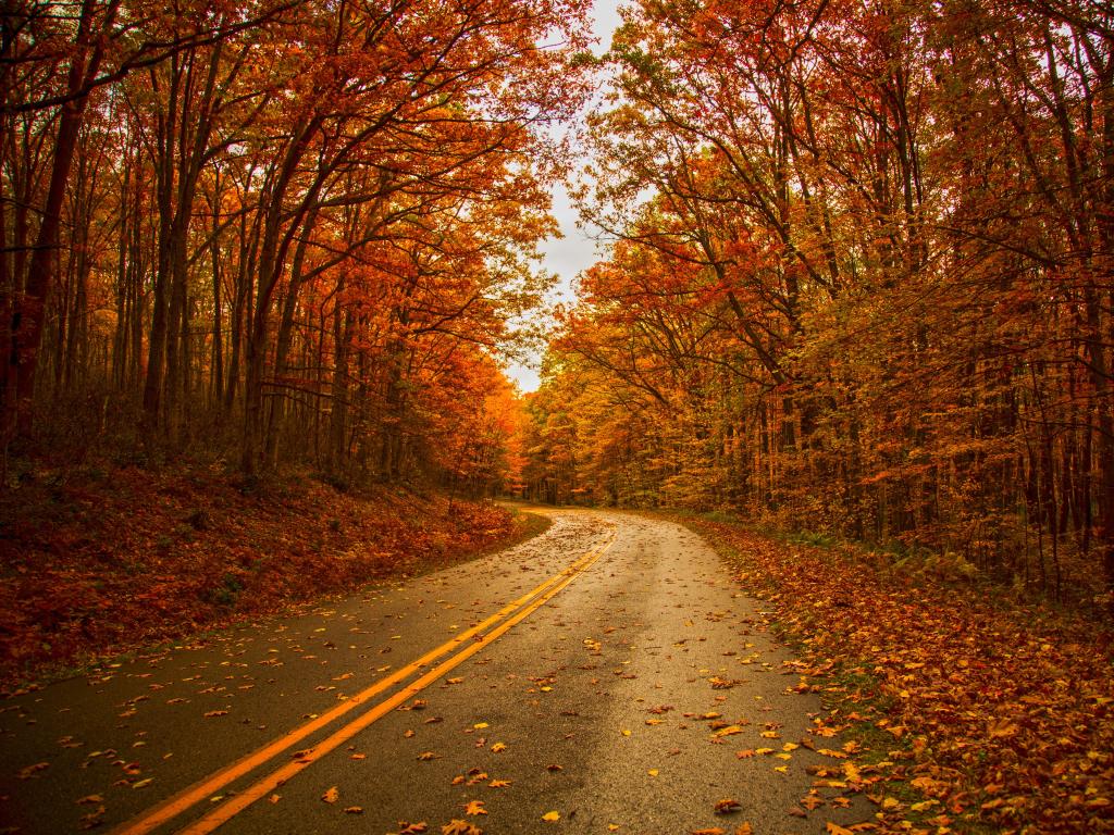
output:
{"label": "orange-red autumn trees standing left of the road", "polygon": [[92,387],[145,459],[498,482],[584,3],[157,6],[10,10],[4,438]]}

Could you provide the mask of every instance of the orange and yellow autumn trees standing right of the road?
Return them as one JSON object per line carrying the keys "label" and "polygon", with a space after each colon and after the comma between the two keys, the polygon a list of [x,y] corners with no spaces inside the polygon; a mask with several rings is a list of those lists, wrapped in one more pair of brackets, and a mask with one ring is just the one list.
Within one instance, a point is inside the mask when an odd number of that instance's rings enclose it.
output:
{"label": "orange and yellow autumn trees standing right of the road", "polygon": [[532,494],[1108,602],[1112,47],[1088,0],[641,3]]}

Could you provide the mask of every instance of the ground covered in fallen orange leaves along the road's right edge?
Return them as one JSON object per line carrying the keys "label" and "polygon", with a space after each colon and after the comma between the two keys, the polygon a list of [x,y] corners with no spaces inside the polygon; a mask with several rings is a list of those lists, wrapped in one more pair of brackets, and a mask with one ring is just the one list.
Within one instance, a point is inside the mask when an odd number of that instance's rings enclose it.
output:
{"label": "ground covered in fallen orange leaves along the road's right edge", "polygon": [[861,551],[686,522],[801,642],[798,687],[825,694],[828,724],[861,741],[817,775],[877,804],[854,829],[1114,832],[1108,621]]}

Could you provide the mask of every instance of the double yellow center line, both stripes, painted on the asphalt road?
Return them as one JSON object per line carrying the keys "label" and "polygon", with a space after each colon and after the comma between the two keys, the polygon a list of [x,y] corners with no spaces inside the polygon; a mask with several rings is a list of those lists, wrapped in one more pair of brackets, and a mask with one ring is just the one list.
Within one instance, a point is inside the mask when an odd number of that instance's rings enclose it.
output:
{"label": "double yellow center line, both stripes, painted on the asphalt road", "polygon": [[[317,718],[301,725],[289,734],[264,745],[251,754],[237,759],[235,763],[214,772],[208,777],[195,783],[193,786],[167,798],[163,803],[154,806],[138,817],[125,823],[113,832],[113,835],[144,835],[163,826],[198,803],[208,800],[214,794],[221,792],[231,783],[254,772],[264,764],[277,757],[283,752],[290,750],[300,741],[312,734],[326,728],[340,717],[356,708],[368,706],[358,716],[338,728],[322,741],[305,752],[300,752],[296,759],[275,768],[270,774],[261,777],[247,788],[237,792],[219,806],[214,807],[206,815],[194,823],[178,829],[180,835],[203,835],[211,833],[222,824],[226,823],[234,815],[237,815],[247,806],[265,797],[303,768],[306,768],[324,755],[340,747],[361,730],[367,728],[377,719],[382,718],[391,710],[401,706],[416,694],[421,692],[455,667],[462,664],[471,656],[479,652],[483,647],[501,636],[516,623],[528,618],[535,610],[545,606],[555,595],[559,593],[566,586],[576,579],[578,574],[587,570],[615,541],[615,534],[600,546],[588,551],[580,559],[566,568],[560,573],[550,577],[537,588],[528,591],[522,597],[508,603],[491,617],[477,623],[467,631],[457,635],[451,640],[446,641],[440,647],[431,649],[426,655],[405,667],[397,670],[387,678],[377,681],[371,687],[356,694],[352,698],[343,701],[333,709],[322,714]],[[461,645],[467,645],[462,649]],[[414,679],[398,692],[389,696],[382,701],[371,704],[380,694],[402,684],[413,674],[428,667],[442,656],[458,650],[455,655],[438,664],[433,669],[426,672],[420,678]]]}

